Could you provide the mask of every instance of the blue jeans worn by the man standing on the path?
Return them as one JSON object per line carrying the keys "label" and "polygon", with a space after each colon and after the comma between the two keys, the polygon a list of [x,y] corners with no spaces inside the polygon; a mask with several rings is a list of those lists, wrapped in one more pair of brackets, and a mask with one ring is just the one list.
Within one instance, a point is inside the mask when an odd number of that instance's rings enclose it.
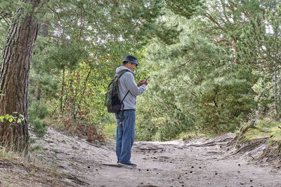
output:
{"label": "blue jeans worn by the man standing on the path", "polygon": [[131,147],[135,140],[136,111],[119,111],[115,113],[115,117],[118,125],[116,135],[116,155],[118,162],[131,163]]}

